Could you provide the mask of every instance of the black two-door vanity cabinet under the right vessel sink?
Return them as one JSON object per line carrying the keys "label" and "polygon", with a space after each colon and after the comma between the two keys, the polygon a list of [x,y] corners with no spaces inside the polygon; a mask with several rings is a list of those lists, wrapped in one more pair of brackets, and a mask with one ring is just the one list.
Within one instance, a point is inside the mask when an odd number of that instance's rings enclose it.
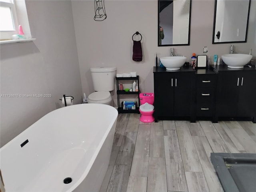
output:
{"label": "black two-door vanity cabinet under the right vessel sink", "polygon": [[256,122],[256,70],[229,69],[226,66],[215,67],[218,70],[216,96],[216,116],[250,117]]}

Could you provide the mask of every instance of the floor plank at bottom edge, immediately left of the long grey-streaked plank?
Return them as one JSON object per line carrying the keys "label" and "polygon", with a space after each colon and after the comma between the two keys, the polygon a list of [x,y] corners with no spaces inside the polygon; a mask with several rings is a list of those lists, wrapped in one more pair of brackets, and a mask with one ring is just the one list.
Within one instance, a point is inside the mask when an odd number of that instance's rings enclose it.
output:
{"label": "floor plank at bottom edge, immediately left of the long grey-streaked plank", "polygon": [[166,168],[164,158],[149,158],[147,192],[166,192]]}

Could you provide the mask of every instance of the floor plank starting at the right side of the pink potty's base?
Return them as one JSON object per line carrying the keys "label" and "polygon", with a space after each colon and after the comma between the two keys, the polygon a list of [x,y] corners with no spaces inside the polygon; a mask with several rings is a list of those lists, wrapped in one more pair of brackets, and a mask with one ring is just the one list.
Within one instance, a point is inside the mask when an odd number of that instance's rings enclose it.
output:
{"label": "floor plank starting at the right side of the pink potty's base", "polygon": [[149,157],[164,157],[163,121],[151,123]]}

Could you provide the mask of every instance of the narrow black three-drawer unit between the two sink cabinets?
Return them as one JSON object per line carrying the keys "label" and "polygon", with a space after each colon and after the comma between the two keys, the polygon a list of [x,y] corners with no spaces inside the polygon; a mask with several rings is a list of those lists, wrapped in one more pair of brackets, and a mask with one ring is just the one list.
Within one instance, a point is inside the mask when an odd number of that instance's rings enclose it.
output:
{"label": "narrow black three-drawer unit between the two sink cabinets", "polygon": [[218,74],[208,69],[196,71],[196,117],[210,117],[214,121]]}

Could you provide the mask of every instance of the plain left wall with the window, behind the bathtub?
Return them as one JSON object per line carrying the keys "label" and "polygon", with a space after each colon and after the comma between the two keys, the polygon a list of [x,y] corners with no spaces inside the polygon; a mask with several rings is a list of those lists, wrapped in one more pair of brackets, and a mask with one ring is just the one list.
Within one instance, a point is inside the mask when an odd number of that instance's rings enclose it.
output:
{"label": "plain left wall with the window, behind the bathtub", "polygon": [[60,108],[62,94],[75,103],[82,97],[71,2],[29,0],[26,7],[36,41],[1,44],[1,94],[52,97],[1,97],[1,146]]}

